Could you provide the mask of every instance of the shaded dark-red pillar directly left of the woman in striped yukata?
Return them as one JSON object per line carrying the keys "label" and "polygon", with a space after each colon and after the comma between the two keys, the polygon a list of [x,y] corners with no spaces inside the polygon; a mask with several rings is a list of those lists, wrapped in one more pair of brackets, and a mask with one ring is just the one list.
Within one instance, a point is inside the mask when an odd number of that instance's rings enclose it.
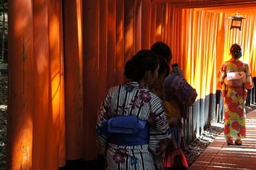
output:
{"label": "shaded dark-red pillar directly left of the woman in striped yukata", "polygon": [[[95,121],[98,109],[98,89],[100,87],[98,74],[101,71],[99,67],[99,7],[99,1],[83,1],[84,160],[96,160],[97,153],[100,152],[95,143]],[[112,24],[115,26],[114,23]]]}

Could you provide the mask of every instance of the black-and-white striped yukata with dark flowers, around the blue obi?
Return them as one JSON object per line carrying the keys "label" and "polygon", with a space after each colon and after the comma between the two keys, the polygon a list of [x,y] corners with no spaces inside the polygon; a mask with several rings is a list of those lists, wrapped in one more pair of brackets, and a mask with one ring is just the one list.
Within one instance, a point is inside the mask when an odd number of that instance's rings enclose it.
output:
{"label": "black-and-white striped yukata with dark flowers, around the blue obi", "polygon": [[[108,143],[103,123],[116,116],[147,121],[148,144],[124,146]],[[110,88],[97,119],[97,139],[106,156],[106,169],[162,169],[163,153],[171,133],[161,100],[145,84],[127,82]]]}

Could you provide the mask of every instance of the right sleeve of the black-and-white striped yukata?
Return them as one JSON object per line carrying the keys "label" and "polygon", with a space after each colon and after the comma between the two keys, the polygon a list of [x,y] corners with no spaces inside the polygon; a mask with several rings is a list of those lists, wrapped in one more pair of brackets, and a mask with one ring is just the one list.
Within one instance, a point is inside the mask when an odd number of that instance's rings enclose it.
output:
{"label": "right sleeve of the black-and-white striped yukata", "polygon": [[[152,98],[153,99],[153,98]],[[149,125],[149,143],[148,148],[154,155],[157,169],[161,169],[161,161],[163,160],[164,151],[166,150],[170,137],[170,127],[166,115],[163,111],[163,104],[159,98],[154,97],[152,100]]]}

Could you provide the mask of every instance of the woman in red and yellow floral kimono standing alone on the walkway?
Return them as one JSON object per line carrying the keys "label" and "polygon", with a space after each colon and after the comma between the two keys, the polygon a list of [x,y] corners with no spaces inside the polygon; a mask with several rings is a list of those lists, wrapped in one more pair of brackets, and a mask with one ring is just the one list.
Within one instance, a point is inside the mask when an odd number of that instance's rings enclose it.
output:
{"label": "woman in red and yellow floral kimono standing alone on the walkway", "polygon": [[239,60],[243,49],[237,43],[230,47],[232,58],[220,66],[221,96],[224,98],[224,134],[228,145],[235,140],[241,145],[245,137],[245,99],[247,90],[253,87],[250,66]]}

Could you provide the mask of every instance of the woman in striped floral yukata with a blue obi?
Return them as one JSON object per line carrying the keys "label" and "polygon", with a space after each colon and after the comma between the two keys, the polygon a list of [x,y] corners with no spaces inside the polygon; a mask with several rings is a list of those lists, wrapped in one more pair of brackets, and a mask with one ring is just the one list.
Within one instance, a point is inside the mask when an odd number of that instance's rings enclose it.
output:
{"label": "woman in striped floral yukata with a blue obi", "polygon": [[125,64],[131,81],[108,90],[96,127],[106,169],[162,169],[170,128],[161,100],[148,88],[158,69],[157,56],[140,50]]}

